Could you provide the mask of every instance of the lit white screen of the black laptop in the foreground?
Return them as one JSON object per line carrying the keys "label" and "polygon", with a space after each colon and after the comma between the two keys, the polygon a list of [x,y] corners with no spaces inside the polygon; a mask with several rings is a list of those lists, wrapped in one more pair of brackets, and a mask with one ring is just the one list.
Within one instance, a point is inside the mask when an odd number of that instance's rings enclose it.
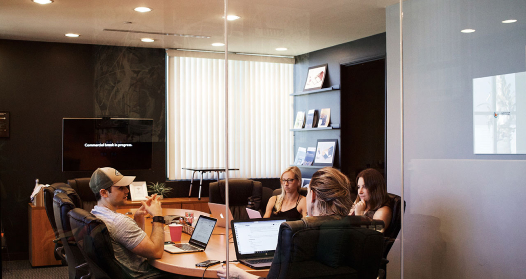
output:
{"label": "lit white screen of the black laptop in the foreground", "polygon": [[234,223],[239,254],[255,254],[276,250],[279,225],[287,220],[266,220]]}

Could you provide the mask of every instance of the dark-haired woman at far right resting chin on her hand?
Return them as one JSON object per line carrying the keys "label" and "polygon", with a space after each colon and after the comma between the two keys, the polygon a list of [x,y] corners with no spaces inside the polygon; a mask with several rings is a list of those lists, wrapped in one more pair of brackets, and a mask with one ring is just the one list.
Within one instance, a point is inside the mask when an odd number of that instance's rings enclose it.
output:
{"label": "dark-haired woman at far right resting chin on her hand", "polygon": [[358,197],[349,215],[365,215],[371,219],[382,220],[385,224],[384,230],[387,229],[391,222],[392,210],[388,205],[389,195],[382,174],[375,169],[363,170],[356,177],[356,185]]}

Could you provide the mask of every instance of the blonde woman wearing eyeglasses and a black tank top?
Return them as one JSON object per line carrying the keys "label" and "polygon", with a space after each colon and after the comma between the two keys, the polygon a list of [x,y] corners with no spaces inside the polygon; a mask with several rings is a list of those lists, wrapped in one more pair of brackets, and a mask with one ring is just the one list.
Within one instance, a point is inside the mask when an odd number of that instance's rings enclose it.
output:
{"label": "blonde woman wearing eyeglasses and a black tank top", "polygon": [[279,181],[281,182],[281,194],[270,197],[264,218],[307,216],[305,197],[299,194],[301,171],[298,167],[288,167],[281,173]]}

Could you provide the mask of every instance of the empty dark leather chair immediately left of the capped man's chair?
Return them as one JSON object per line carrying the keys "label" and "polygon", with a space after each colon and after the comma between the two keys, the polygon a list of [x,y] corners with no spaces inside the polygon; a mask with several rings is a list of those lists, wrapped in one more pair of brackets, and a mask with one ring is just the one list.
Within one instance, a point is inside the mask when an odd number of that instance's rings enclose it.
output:
{"label": "empty dark leather chair immediately left of the capped man's chair", "polygon": [[78,249],[77,243],[73,238],[69,224],[69,216],[67,215],[70,210],[76,208],[73,200],[80,201],[75,190],[65,190],[64,188],[57,190],[53,198],[53,209],[57,223],[57,231],[66,253],[69,279],[85,279],[89,278],[91,274],[86,260],[84,260],[84,256]]}

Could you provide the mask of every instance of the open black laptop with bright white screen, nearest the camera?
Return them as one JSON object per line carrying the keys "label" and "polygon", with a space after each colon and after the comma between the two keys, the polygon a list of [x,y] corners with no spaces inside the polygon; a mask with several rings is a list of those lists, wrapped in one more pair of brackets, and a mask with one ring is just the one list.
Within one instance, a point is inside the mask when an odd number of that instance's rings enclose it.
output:
{"label": "open black laptop with bright white screen, nearest the camera", "polygon": [[[232,220],[237,260],[254,269],[269,268],[278,244],[279,226],[286,218]],[[289,219],[290,221],[290,219]]]}

